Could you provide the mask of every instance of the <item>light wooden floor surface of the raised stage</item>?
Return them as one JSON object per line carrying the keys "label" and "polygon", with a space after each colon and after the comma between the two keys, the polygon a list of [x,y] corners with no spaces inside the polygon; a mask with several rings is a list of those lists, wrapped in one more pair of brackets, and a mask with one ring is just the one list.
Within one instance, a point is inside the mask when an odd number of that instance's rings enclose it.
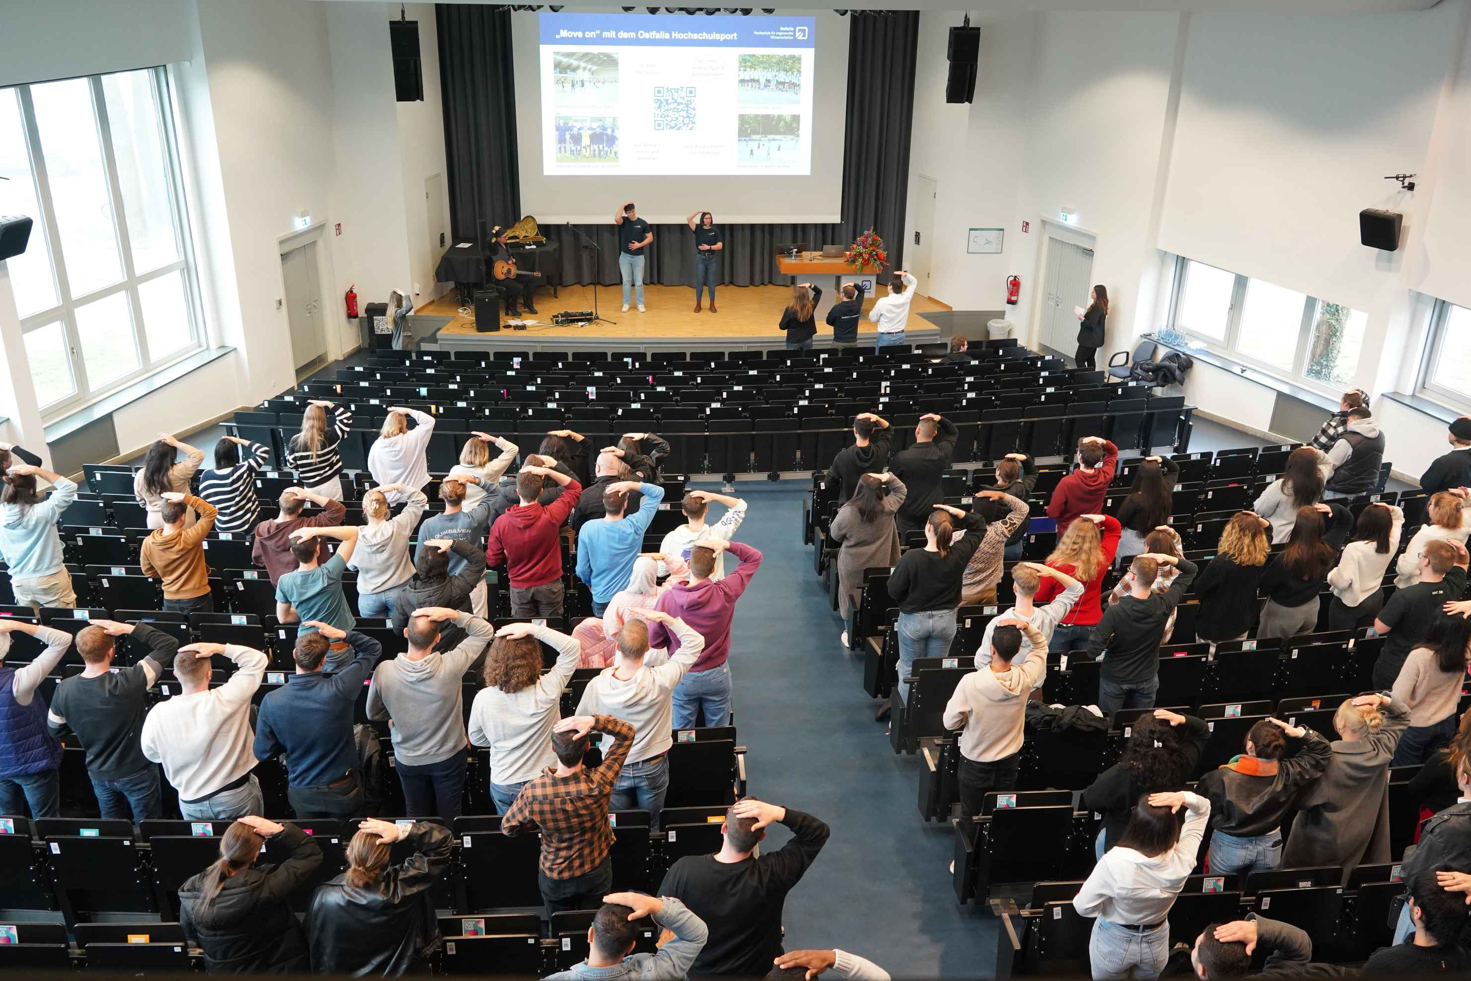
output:
{"label": "light wooden floor surface of the raised stage", "polygon": [[[783,334],[777,324],[781,321],[781,312],[786,309],[787,302],[791,299],[791,288],[784,285],[765,285],[765,287],[719,287],[715,293],[715,303],[719,307],[719,313],[710,313],[706,309],[703,313],[694,313],[694,290],[690,287],[666,287],[666,285],[647,285],[644,287],[644,306],[647,312],[640,313],[638,307],[630,306],[627,313],[622,313],[619,307],[622,306],[622,290],[619,287],[599,287],[597,300],[600,313],[615,321],[615,324],[590,324],[584,327],[566,325],[556,327],[552,324],[552,315],[560,310],[590,310],[593,309],[593,288],[571,285],[562,288],[560,299],[555,299],[550,290],[537,290],[537,313],[528,315],[528,318],[538,321],[538,324],[530,325],[525,331],[512,331],[505,324],[499,334],[478,334],[471,324],[475,319],[474,310],[466,309],[465,313],[459,312],[459,304],[455,300],[455,294],[446,294],[432,303],[421,306],[415,313],[427,313],[437,316],[452,318],[449,324],[440,331],[438,337],[444,341],[453,343],[456,338],[460,340],[490,340],[496,341],[510,341],[510,340],[549,340],[549,338],[568,338],[568,340],[583,340],[590,343],[608,341],[608,340],[722,340],[722,341],[772,341],[780,344],[786,334]],[[863,303],[863,309],[872,309],[874,302],[868,300]],[[909,334],[921,334],[921,340],[934,340],[930,337],[931,332],[937,334],[937,328],[928,321],[919,318],[919,313],[930,313],[936,310],[949,310],[950,307],[931,300],[925,296],[915,296],[913,304],[911,307],[909,319]],[[874,329],[872,324],[866,319],[859,325],[859,338],[872,338]],[[818,335],[816,341],[831,340],[833,328],[822,324],[821,316],[818,318]]]}

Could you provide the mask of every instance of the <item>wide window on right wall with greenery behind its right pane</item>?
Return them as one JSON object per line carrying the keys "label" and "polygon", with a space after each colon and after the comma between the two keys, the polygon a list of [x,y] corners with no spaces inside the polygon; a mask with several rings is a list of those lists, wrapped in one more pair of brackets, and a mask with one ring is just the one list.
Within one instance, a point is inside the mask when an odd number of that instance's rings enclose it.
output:
{"label": "wide window on right wall with greenery behind its right pane", "polygon": [[1175,260],[1169,324],[1206,347],[1339,394],[1352,381],[1368,316],[1306,293]]}

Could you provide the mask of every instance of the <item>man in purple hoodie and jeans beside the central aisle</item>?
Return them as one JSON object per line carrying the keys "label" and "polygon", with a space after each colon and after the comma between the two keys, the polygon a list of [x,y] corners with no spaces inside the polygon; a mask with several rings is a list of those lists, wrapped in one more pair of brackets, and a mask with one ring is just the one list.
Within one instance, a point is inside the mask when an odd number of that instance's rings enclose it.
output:
{"label": "man in purple hoodie and jeans beside the central aisle", "polygon": [[[724,579],[710,579],[715,556],[724,550],[740,559],[740,566],[727,572]],[[674,728],[694,728],[702,707],[705,725],[730,725],[731,669],[725,659],[731,653],[731,616],[736,613],[736,600],[759,568],[761,552],[750,546],[719,538],[702,541],[690,552],[690,581],[675,584],[659,597],[656,609],[660,613],[683,619],[705,637],[699,660],[674,688]],[[680,650],[680,638],[663,624],[650,624],[649,647],[665,647],[674,657]]]}

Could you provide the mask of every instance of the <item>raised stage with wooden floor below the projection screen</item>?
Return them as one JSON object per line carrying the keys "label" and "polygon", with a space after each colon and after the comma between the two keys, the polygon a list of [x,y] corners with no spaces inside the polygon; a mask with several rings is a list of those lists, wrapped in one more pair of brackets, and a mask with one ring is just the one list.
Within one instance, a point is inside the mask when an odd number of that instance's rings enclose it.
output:
{"label": "raised stage with wooden floor below the projection screen", "polygon": [[[763,350],[786,344],[786,334],[777,328],[781,312],[791,299],[791,288],[784,285],[765,287],[718,287],[715,303],[718,313],[706,309],[694,313],[694,290],[690,287],[644,287],[644,313],[630,306],[622,313],[621,287],[599,287],[599,312],[613,324],[587,324],[558,327],[552,315],[560,310],[593,309],[593,288],[566,285],[562,296],[553,297],[549,290],[537,291],[537,313],[528,319],[527,329],[512,329],[502,319],[502,329],[480,334],[472,327],[475,312],[466,307],[460,312],[455,294],[446,294],[415,310],[415,315],[449,316],[450,321],[419,343],[444,350],[477,350],[488,347],[515,347],[516,350]],[[865,300],[863,310],[872,309],[874,300]],[[925,296],[915,296],[911,306],[909,327],[905,337],[911,344],[933,344],[949,337],[925,319],[924,313],[947,312],[950,307]],[[858,332],[861,344],[874,343],[872,324],[862,321]],[[818,346],[831,341],[833,328],[818,319]]]}

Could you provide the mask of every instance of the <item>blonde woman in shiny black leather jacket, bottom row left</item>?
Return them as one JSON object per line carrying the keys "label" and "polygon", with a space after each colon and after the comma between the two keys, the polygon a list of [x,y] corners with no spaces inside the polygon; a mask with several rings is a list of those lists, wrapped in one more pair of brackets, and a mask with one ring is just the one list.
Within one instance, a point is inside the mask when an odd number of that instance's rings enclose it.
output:
{"label": "blonde woman in shiny black leather jacket, bottom row left", "polygon": [[[393,843],[413,855],[391,865]],[[430,974],[438,947],[434,884],[450,868],[455,835],[430,821],[406,831],[372,818],[347,843],[347,871],[316,888],[306,912],[315,974]]]}

